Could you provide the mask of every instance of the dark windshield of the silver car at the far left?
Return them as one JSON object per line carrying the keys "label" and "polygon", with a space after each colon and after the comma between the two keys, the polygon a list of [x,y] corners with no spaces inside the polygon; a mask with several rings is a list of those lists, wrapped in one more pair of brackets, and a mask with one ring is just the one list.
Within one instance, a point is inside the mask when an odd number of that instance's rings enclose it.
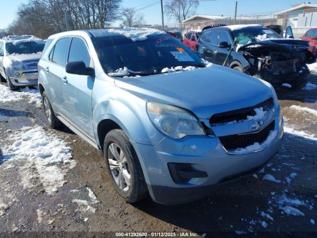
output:
{"label": "dark windshield of the silver car at the far left", "polygon": [[42,52],[44,48],[43,43],[36,43],[34,41],[19,43],[14,45],[13,43],[6,43],[5,44],[5,51],[11,54],[33,54]]}

